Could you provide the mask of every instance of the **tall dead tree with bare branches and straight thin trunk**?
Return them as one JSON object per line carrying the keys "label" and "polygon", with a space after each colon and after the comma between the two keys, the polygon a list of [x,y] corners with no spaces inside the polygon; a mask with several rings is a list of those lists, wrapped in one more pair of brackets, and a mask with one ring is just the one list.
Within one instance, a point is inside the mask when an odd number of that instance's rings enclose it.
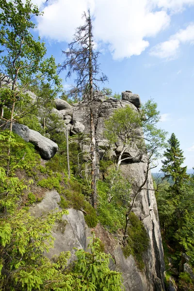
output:
{"label": "tall dead tree with bare branches and straight thin trunk", "polygon": [[65,62],[61,70],[67,70],[66,78],[76,75],[75,87],[71,95],[82,100],[90,108],[90,158],[91,158],[91,189],[92,205],[97,208],[97,161],[96,161],[96,133],[95,133],[95,96],[99,92],[98,84],[107,80],[101,73],[97,62],[99,52],[95,50],[92,18],[90,11],[84,12],[84,25],[77,28],[73,42],[68,46]]}

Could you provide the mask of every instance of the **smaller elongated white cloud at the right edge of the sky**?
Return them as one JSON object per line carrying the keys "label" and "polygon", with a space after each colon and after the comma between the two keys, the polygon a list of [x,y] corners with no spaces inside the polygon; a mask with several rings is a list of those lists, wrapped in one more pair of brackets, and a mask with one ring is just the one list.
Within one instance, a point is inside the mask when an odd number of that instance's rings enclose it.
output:
{"label": "smaller elongated white cloud at the right edge of the sky", "polygon": [[194,23],[190,23],[185,30],[179,30],[168,41],[156,45],[149,53],[155,57],[172,60],[178,56],[180,44],[185,43],[194,44]]}

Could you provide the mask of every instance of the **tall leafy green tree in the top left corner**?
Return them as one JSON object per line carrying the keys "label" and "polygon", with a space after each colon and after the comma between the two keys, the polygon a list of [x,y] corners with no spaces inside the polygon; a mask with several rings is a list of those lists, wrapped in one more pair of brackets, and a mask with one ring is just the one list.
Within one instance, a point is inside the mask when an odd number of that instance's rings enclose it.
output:
{"label": "tall leafy green tree in the top left corner", "polygon": [[[0,108],[1,120],[13,122],[32,110],[31,100],[27,90],[33,86],[51,87],[55,94],[61,90],[55,60],[44,58],[45,44],[40,39],[35,40],[31,30],[35,28],[33,16],[39,16],[37,6],[31,0],[0,1]],[[24,112],[16,113],[16,106],[25,108]],[[35,103],[33,105],[35,107]],[[9,118],[3,113],[4,108],[10,110]]]}

